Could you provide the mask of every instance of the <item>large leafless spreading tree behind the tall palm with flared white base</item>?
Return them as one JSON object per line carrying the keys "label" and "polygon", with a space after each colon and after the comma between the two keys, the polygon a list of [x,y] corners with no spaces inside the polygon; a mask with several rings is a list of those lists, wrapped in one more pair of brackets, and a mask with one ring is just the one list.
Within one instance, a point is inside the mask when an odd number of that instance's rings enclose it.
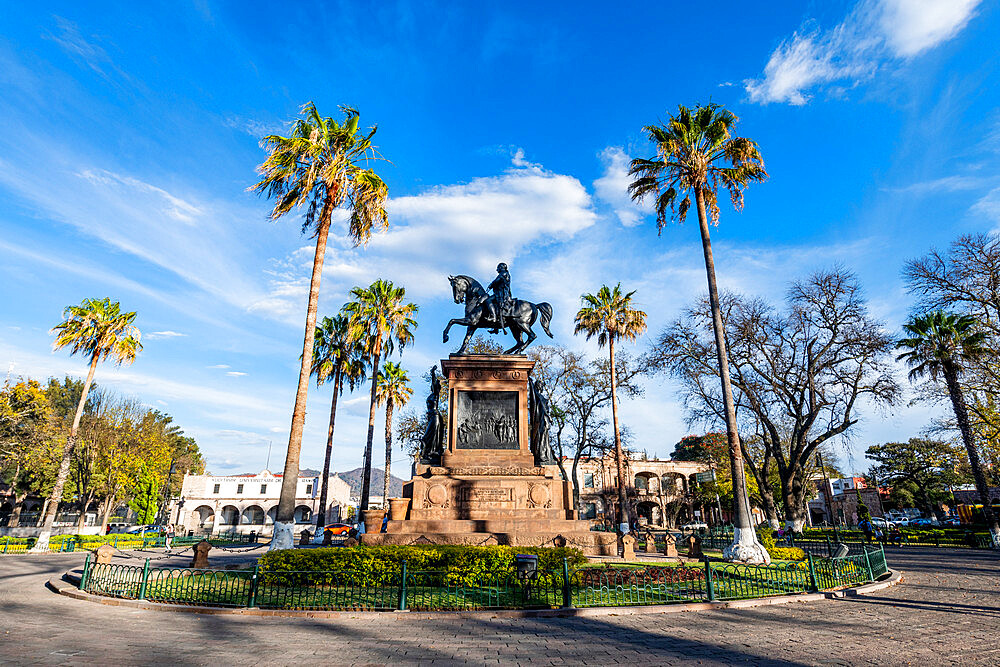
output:
{"label": "large leafless spreading tree behind the tall palm with flared white base", "polygon": [[[840,269],[793,283],[785,312],[736,294],[721,301],[740,428],[773,458],[786,524],[801,530],[817,448],[848,433],[859,402],[898,400],[894,340],[869,315],[855,277]],[[711,344],[711,313],[700,302],[664,330],[651,360],[680,380],[689,419],[717,426],[724,412]],[[760,479],[763,471],[749,467]]]}

